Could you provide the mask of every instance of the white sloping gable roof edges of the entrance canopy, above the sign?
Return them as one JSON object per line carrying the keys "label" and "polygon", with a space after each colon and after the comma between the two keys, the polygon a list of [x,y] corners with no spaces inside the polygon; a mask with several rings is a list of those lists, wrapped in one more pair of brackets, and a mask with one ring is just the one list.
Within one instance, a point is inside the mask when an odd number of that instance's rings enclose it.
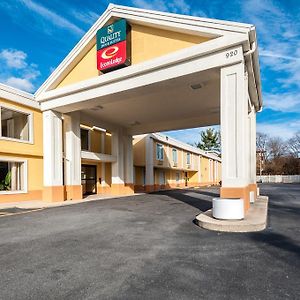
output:
{"label": "white sloping gable roof edges of the entrance canopy, above the sign", "polygon": [[[199,36],[220,37],[225,35],[247,35],[248,37],[249,35],[249,37],[252,36],[252,38],[255,38],[255,28],[251,24],[220,21],[110,4],[90,30],[82,37],[61,64],[37,90],[35,95],[39,96],[41,93],[53,89],[95,43],[96,32],[113,18],[125,18],[129,22],[135,24]],[[249,38],[248,45],[245,45],[245,51],[250,49],[250,39],[251,38]]]}

